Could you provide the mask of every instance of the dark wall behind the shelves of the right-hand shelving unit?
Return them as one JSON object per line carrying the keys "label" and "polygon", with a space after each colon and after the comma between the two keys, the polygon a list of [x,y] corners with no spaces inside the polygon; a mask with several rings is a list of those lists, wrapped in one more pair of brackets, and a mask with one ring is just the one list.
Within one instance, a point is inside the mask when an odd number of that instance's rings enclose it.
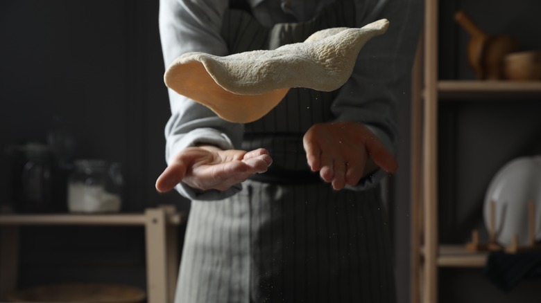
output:
{"label": "dark wall behind the shelves of the right-hand shelving unit", "polygon": [[[463,9],[486,33],[513,35],[520,50],[541,49],[541,2],[439,1],[440,79],[474,80],[467,63],[470,36],[453,19]],[[440,241],[464,244],[472,229],[488,239],[483,222],[487,187],[497,171],[519,156],[541,154],[541,98],[444,100],[439,121]],[[538,302],[541,279],[499,290],[483,269],[440,269],[440,302]]]}

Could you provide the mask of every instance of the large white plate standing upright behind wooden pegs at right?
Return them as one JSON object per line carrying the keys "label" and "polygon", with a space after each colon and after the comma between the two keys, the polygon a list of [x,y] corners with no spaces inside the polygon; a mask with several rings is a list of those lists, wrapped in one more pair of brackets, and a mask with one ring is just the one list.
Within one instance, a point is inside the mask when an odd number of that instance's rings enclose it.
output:
{"label": "large white plate standing upright behind wooden pegs at right", "polygon": [[483,214],[490,230],[490,203],[495,203],[496,241],[509,246],[513,235],[528,244],[528,203],[535,205],[535,240],[541,239],[541,156],[511,160],[492,178]]}

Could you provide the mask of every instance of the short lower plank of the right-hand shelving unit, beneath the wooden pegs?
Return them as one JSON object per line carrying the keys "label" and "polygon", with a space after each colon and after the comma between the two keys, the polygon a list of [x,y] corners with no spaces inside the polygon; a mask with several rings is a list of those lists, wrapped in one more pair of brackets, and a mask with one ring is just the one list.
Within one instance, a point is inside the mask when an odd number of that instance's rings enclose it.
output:
{"label": "short lower plank of the right-hand shelving unit, beneath the wooden pegs", "polygon": [[[424,247],[421,254],[424,255]],[[438,267],[482,268],[487,257],[486,252],[471,252],[461,245],[442,244],[438,246],[436,259]]]}

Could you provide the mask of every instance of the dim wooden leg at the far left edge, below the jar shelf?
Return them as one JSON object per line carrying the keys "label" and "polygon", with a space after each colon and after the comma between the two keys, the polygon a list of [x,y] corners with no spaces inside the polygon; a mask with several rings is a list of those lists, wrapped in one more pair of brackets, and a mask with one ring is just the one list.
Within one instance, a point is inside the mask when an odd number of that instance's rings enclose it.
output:
{"label": "dim wooden leg at the far left edge, below the jar shelf", "polygon": [[0,226],[0,302],[15,291],[19,270],[19,226]]}

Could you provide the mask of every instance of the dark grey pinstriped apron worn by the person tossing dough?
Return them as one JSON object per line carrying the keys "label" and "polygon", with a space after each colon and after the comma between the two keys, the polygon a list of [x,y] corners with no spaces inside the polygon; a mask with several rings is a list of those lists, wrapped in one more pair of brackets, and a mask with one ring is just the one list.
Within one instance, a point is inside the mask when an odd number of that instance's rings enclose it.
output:
{"label": "dark grey pinstriped apron worn by the person tossing dough", "polygon": [[[311,21],[261,26],[229,10],[230,53],[302,42],[329,27],[354,27],[352,1]],[[268,172],[221,201],[192,201],[175,302],[395,302],[386,213],[379,187],[335,191],[309,171],[302,136],[332,120],[335,92],[291,89],[245,125],[243,149],[264,147]]]}

